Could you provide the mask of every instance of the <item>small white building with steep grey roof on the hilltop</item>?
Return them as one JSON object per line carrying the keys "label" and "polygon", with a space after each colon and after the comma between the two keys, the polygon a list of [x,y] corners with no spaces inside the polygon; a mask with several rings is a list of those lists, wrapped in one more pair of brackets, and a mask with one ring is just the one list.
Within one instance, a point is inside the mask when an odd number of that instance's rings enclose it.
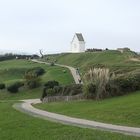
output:
{"label": "small white building with steep grey roof on the hilltop", "polygon": [[81,33],[75,33],[71,42],[71,52],[80,53],[85,52],[85,41]]}

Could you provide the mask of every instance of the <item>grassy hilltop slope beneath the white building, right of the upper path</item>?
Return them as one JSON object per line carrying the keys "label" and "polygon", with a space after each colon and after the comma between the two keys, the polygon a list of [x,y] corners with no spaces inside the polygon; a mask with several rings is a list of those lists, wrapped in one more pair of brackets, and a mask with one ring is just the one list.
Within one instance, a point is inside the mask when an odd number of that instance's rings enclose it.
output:
{"label": "grassy hilltop slope beneath the white building, right of the upper path", "polygon": [[98,65],[109,67],[116,73],[129,72],[140,68],[140,61],[134,61],[139,60],[139,56],[130,51],[124,53],[115,50],[76,54],[67,53],[49,55],[48,58],[49,61],[57,61],[60,64],[66,64],[76,68],[79,67],[82,72]]}

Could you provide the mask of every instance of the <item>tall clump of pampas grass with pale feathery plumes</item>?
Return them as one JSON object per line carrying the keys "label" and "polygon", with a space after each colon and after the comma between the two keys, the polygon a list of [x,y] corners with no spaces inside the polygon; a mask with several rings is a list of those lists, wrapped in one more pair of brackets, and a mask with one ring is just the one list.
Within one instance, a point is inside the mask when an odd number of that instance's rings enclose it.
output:
{"label": "tall clump of pampas grass with pale feathery plumes", "polygon": [[[107,68],[94,68],[90,69],[84,75],[83,90],[87,97],[94,97],[96,100],[105,98],[108,96],[106,93],[106,85],[112,79],[114,75],[111,75]],[[87,95],[89,94],[89,95]],[[91,96],[93,94],[93,96]]]}

